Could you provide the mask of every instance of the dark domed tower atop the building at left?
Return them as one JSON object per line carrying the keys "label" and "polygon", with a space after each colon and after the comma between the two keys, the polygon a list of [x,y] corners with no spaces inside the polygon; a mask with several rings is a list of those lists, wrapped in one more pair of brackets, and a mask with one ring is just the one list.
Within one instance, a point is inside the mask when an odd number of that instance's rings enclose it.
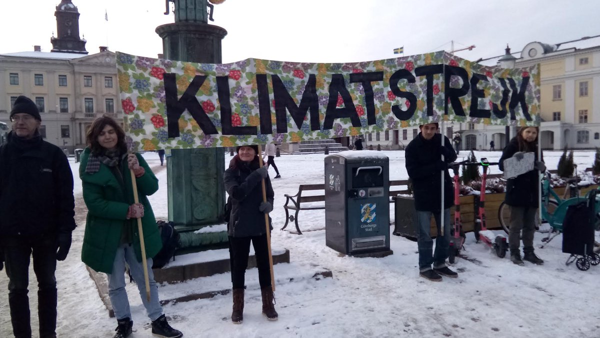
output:
{"label": "dark domed tower atop the building at left", "polygon": [[79,11],[71,0],[62,0],[56,6],[56,35],[51,37],[51,52],[88,54],[85,39],[79,38]]}

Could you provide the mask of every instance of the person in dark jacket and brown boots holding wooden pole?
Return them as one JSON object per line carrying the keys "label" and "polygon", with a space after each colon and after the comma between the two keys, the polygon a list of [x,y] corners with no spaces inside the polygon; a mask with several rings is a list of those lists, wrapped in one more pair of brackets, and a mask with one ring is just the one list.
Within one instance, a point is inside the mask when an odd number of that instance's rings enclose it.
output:
{"label": "person in dark jacket and brown boots holding wooden pole", "polygon": [[[262,293],[262,312],[270,321],[278,319],[274,307],[271,284],[271,266],[266,235],[265,214],[273,210],[275,193],[266,167],[260,168],[257,146],[240,146],[223,174],[225,189],[232,202],[227,229],[232,267],[233,311],[231,320],[240,324],[244,320],[244,277],[248,267],[250,242],[254,245],[259,284]],[[265,180],[266,200],[262,198]],[[269,218],[269,223],[271,218]],[[271,224],[269,228],[272,229]]]}

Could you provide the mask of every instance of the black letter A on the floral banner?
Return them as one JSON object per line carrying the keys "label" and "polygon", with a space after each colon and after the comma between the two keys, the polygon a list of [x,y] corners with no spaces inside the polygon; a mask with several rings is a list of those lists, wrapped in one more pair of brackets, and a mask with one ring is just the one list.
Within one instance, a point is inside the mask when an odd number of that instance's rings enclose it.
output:
{"label": "black letter A on the floral banner", "polygon": [[[338,95],[344,100],[344,108],[337,107]],[[331,84],[329,84],[329,102],[327,103],[327,111],[325,112],[325,121],[323,121],[323,129],[332,129],[336,118],[349,117],[353,127],[361,127],[361,119],[356,114],[356,107],[352,102],[352,96],[346,88],[344,75],[333,74],[331,76]]]}

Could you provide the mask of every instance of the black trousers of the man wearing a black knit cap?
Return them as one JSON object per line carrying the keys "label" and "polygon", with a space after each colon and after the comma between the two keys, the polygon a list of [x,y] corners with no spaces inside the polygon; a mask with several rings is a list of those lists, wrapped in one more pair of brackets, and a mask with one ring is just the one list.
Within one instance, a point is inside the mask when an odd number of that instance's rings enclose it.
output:
{"label": "black trousers of the man wearing a black knit cap", "polygon": [[29,258],[33,254],[38,281],[40,337],[56,333],[56,238],[5,238],[4,262],[8,276],[8,304],[16,338],[31,337],[29,313]]}

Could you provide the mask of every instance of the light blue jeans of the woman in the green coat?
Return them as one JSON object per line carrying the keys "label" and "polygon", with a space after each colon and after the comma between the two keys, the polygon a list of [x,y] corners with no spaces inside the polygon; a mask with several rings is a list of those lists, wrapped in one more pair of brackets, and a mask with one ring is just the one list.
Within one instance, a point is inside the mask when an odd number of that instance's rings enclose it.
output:
{"label": "light blue jeans of the woman in the green coat", "polygon": [[115,262],[113,262],[112,274],[109,278],[110,304],[115,310],[116,319],[131,318],[127,290],[125,290],[125,262],[129,266],[131,277],[136,281],[137,289],[142,297],[142,303],[151,321],[155,321],[163,314],[163,308],[158,301],[158,287],[152,273],[152,259],[147,259],[148,279],[150,281],[150,301],[146,300],[146,283],[144,282],[144,270],[142,262],[137,261],[136,252],[130,244],[122,244],[116,250]]}

